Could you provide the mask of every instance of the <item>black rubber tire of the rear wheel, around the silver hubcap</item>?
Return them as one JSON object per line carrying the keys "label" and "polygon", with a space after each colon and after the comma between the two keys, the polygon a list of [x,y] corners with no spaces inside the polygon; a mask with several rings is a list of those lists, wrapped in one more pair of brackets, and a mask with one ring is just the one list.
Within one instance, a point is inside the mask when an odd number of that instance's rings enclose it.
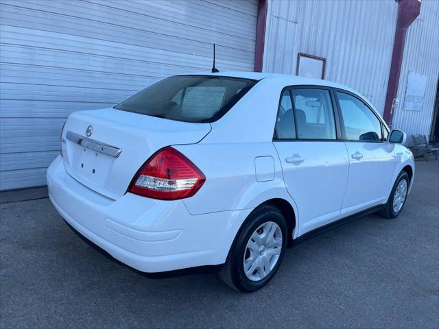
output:
{"label": "black rubber tire of the rear wheel, around the silver hubcap", "polygon": [[[270,273],[265,276],[265,278],[259,281],[252,281],[249,280],[244,273],[244,252],[246,252],[247,243],[254,231],[257,230],[257,228],[259,228],[259,226],[261,226],[263,223],[267,223],[269,221],[276,223],[281,229],[281,254],[279,255],[276,265],[273,267]],[[287,247],[287,232],[287,222],[277,208],[274,208],[273,206],[261,206],[260,208],[255,209],[248,216],[241,227],[241,230],[239,230],[237,236],[235,237],[235,241],[228,252],[226,263],[224,263],[222,269],[219,271],[219,277],[226,284],[228,284],[228,286],[238,291],[251,293],[252,291],[261,289],[263,286],[265,286],[265,284],[270,282],[278,270],[278,267],[282,263],[283,255],[285,254],[285,249]]]}

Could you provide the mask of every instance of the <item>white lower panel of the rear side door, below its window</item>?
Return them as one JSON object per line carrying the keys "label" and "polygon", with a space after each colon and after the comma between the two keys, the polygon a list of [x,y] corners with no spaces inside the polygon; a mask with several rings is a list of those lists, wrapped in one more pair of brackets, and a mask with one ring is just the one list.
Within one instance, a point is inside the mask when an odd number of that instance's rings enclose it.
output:
{"label": "white lower panel of the rear side door, below its window", "polygon": [[[299,234],[340,218],[349,161],[342,141],[275,141],[289,195],[298,206]],[[300,157],[301,162],[288,158]]]}

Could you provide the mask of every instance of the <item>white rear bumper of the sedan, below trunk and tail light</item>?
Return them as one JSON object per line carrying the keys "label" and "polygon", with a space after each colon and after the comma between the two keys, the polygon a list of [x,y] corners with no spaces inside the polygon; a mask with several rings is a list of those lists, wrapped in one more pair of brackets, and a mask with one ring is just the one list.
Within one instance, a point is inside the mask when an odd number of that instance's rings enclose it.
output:
{"label": "white rear bumper of the sedan, below trunk and tail light", "polygon": [[108,199],[71,178],[60,156],[47,170],[47,186],[54,207],[75,230],[117,260],[145,272],[224,263],[251,211],[190,215],[179,200],[131,193]]}

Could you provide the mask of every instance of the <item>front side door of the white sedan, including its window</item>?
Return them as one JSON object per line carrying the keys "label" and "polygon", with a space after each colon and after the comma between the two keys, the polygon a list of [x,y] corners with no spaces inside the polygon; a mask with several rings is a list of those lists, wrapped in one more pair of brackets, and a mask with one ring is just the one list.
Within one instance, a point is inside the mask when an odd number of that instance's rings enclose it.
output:
{"label": "front side door of the white sedan, including its window", "polygon": [[386,201],[395,157],[394,145],[383,136],[383,123],[366,101],[344,90],[335,90],[335,95],[350,162],[345,216]]}

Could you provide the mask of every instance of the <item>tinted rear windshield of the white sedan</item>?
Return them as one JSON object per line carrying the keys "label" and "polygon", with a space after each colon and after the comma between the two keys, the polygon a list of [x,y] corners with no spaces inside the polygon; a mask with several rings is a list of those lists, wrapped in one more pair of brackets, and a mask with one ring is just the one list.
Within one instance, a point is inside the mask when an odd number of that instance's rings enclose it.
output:
{"label": "tinted rear windshield of the white sedan", "polygon": [[115,108],[177,121],[213,122],[256,83],[237,77],[177,75],[141,90]]}

